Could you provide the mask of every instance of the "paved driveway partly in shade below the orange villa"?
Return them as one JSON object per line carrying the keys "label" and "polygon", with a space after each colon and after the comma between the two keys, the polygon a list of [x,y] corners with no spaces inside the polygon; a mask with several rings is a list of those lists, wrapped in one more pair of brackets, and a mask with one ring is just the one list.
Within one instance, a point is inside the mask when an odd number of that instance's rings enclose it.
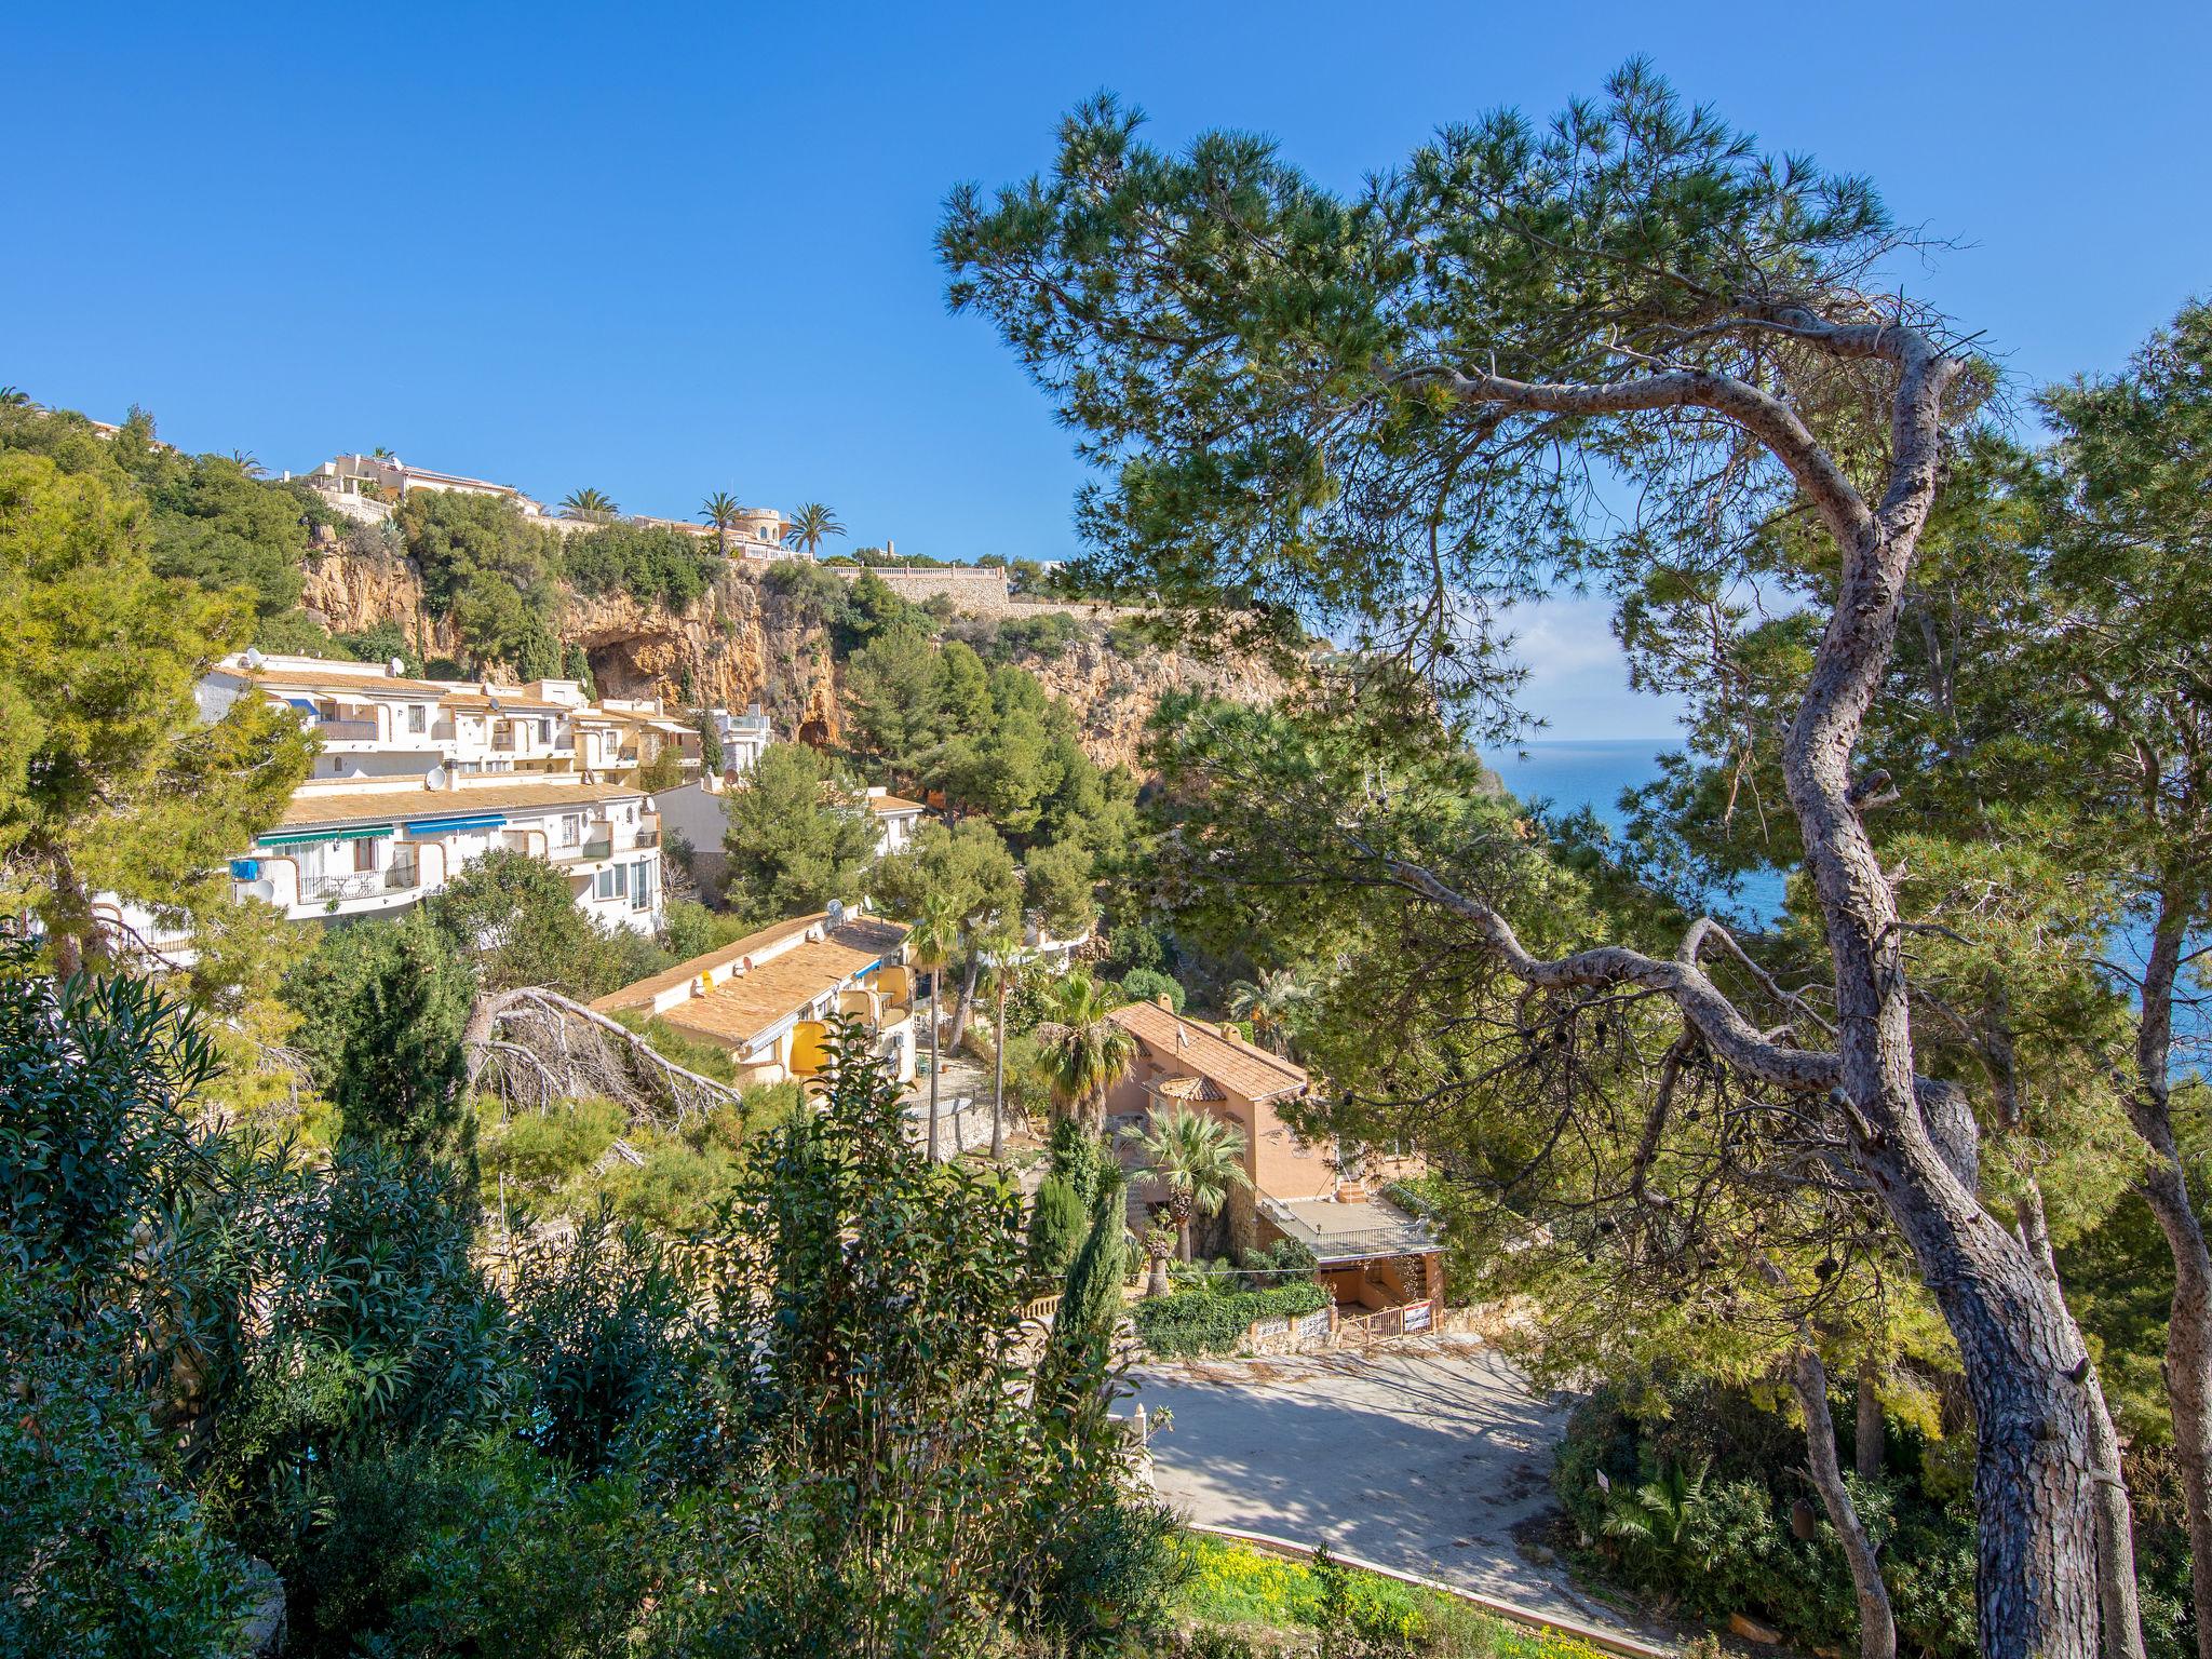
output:
{"label": "paved driveway partly in shade below the orange villa", "polygon": [[1152,1464],[1190,1520],[1628,1630],[1513,1544],[1551,1509],[1566,1407],[1531,1394],[1495,1349],[1440,1336],[1374,1358],[1186,1360],[1135,1380],[1146,1411],[1172,1413]]}

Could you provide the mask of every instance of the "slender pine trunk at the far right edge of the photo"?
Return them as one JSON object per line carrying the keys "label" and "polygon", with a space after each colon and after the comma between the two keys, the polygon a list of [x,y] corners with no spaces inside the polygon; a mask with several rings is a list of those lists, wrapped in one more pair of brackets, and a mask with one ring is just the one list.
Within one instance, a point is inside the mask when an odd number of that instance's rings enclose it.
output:
{"label": "slender pine trunk at the far right edge of the photo", "polygon": [[2212,1659],[2212,1252],[2190,1203],[2188,1172],[2174,1139],[2168,1071],[2174,1040],[2174,978],[2192,902],[2159,896],[2159,918],[2143,964],[2143,1015],[2135,1033],[2135,1088],[2128,1119],[2150,1146],[2137,1183],[2174,1259],[2174,1301],[2166,1323],[2166,1394],[2174,1418],[2174,1460],[2190,1526],[2190,1601],[2199,1659]]}

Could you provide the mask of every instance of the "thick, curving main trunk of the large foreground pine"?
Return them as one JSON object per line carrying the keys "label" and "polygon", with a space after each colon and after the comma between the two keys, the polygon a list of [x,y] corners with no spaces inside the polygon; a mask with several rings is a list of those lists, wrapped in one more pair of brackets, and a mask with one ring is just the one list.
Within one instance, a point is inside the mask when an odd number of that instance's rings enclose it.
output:
{"label": "thick, curving main trunk of the large foreground pine", "polygon": [[[1973,1405],[1975,1624],[1986,1659],[2093,1659],[2097,1486],[2081,1343],[2022,1241],[1982,1208],[1960,1146],[1929,1113],[1896,891],[1858,816],[1851,750],[1896,644],[1898,602],[1942,467],[1938,358],[1902,365],[1898,456],[1880,511],[1838,535],[1843,568],[1783,779],[1827,925],[1836,984],[1836,1110],[1958,1340]],[[1924,507],[1920,509],[1924,513]],[[1971,1139],[1966,1141],[1971,1152]]]}

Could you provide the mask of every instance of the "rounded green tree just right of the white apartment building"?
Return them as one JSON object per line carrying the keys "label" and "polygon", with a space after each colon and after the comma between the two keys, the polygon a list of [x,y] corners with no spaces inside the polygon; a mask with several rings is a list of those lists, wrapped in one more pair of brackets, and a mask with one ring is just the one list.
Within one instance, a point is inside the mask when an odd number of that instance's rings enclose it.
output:
{"label": "rounded green tree just right of the white apartment building", "polygon": [[854,898],[876,856],[867,805],[836,785],[830,763],[803,743],[770,743],[748,787],[730,792],[728,818],[723,891],[730,909],[754,925]]}

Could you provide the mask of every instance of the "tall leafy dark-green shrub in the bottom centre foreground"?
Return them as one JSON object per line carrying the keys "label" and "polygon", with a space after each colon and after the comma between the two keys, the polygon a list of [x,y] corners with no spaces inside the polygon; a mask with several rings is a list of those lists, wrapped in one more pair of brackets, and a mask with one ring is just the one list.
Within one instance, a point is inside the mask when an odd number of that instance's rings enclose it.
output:
{"label": "tall leafy dark-green shrub in the bottom centre foreground", "polygon": [[[914,1157],[898,1093],[854,1040],[823,1110],[774,1130],[732,1210],[743,1270],[721,1316],[757,1334],[750,1409],[776,1431],[745,1506],[695,1513],[664,1610],[684,1652],[984,1652],[1006,1608],[1088,1648],[1161,1615],[1164,1579],[1126,1593],[1146,1584],[1126,1546],[1144,1559],[1166,1537],[1113,1484],[1115,1429],[1020,1387],[1018,1190]],[[896,1422],[933,1431],[887,1455]],[[1102,1595],[1095,1566],[1115,1557]]]}

